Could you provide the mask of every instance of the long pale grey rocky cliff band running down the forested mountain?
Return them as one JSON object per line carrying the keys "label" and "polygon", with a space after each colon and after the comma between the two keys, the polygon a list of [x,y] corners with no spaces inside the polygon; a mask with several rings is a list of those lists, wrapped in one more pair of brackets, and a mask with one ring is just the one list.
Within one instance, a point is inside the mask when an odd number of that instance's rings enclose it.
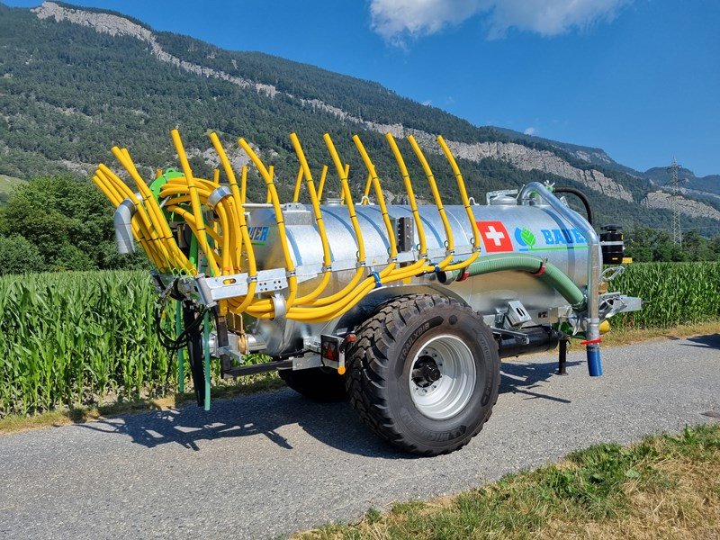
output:
{"label": "long pale grey rocky cliff band running down the forested mountain", "polygon": [[[40,17],[40,19],[53,19],[56,22],[68,21],[70,23],[76,23],[93,28],[98,32],[108,33],[112,36],[131,36],[138,40],[142,40],[148,44],[148,51],[159,61],[166,62],[183,69],[190,74],[219,78],[249,91],[266,94],[271,99],[275,98],[278,94],[281,94],[274,85],[267,85],[247,78],[232,76],[224,71],[187,62],[182,58],[177,58],[166,52],[166,50],[160,46],[152,31],[121,16],[87,12],[82,9],[65,7],[54,2],[45,2],[33,11],[38,17]],[[416,137],[416,139],[418,139],[420,146],[424,149],[427,149],[430,152],[439,151],[437,145],[435,144],[435,137],[428,132],[409,129],[399,123],[384,124],[373,121],[372,119],[359,118],[350,112],[344,111],[319,99],[304,99],[301,96],[284,93],[283,96],[295,101],[298,106],[309,107],[313,110],[333,114],[341,121],[358,124],[367,130],[374,130],[381,133],[391,132],[396,137],[406,137],[412,134]],[[493,159],[506,161],[522,170],[537,170],[573,180],[592,190],[608,195],[609,197],[614,197],[628,202],[633,201],[633,196],[626,187],[622,184],[618,184],[615,180],[609,178],[607,175],[604,175],[599,170],[593,168],[582,169],[572,166],[563,159],[563,157],[559,157],[553,152],[547,150],[538,150],[521,144],[506,142],[482,142],[473,144],[451,140],[448,140],[447,142],[457,157],[472,161],[481,161],[484,158],[491,157]],[[238,162],[242,159],[239,156],[234,157],[238,160]],[[590,156],[581,156],[581,158],[590,160]],[[651,195],[648,196],[647,201],[648,205],[651,206],[665,203],[663,202],[662,194],[657,195],[651,193]],[[688,201],[688,211],[691,211],[690,209],[694,209],[692,211],[698,211],[697,204],[701,203]],[[714,210],[710,207],[707,208]],[[720,218],[720,212],[716,211],[716,213],[718,214],[717,217]],[[701,213],[693,215],[707,214]]]}

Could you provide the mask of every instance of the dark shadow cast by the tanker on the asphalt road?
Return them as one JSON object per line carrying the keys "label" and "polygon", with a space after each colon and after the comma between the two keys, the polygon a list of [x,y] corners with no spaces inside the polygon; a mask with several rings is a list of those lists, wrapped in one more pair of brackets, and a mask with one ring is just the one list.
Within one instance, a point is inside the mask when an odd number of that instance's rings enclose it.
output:
{"label": "dark shadow cast by the tanker on the asphalt road", "polygon": [[[568,365],[577,365],[569,362]],[[503,363],[500,393],[519,392],[529,399],[547,399],[568,403],[545,393],[533,392],[554,376],[557,365],[551,363]],[[500,400],[502,397],[500,396]],[[174,444],[199,451],[198,443],[228,437],[262,435],[275,445],[291,450],[293,444],[281,428],[297,424],[311,437],[348,454],[412,459],[389,446],[362,424],[349,403],[316,403],[291,390],[238,396],[215,401],[210,411],[193,405],[157,410],[116,419],[103,419],[78,425],[131,437],[148,448]]]}

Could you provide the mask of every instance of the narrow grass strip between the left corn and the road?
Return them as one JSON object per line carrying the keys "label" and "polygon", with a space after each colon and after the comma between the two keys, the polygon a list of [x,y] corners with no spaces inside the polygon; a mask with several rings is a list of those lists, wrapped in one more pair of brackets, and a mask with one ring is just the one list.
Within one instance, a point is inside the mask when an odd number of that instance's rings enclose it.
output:
{"label": "narrow grass strip between the left corn and the road", "polygon": [[[269,392],[283,387],[284,384],[277,374],[258,375],[251,383],[215,386],[211,389],[211,398],[213,400],[220,400],[243,394]],[[88,422],[100,418],[109,418],[135,412],[172,409],[194,400],[195,394],[193,392],[185,392],[182,394],[175,393],[164,398],[120,401],[97,407],[49,410],[31,416],[11,414],[0,419],[0,435],[27,431],[29,429],[66,426],[67,424]]]}

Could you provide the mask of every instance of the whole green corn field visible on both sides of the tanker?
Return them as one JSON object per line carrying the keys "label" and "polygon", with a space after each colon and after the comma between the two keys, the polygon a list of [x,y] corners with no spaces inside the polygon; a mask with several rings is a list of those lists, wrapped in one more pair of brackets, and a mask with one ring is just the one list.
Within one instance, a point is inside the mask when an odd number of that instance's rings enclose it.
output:
{"label": "whole green corn field visible on both sides of the tanker", "polygon": [[[614,328],[720,319],[720,263],[631,265],[611,290],[651,302]],[[167,392],[174,359],[154,332],[155,300],[144,272],[0,278],[0,418]]]}

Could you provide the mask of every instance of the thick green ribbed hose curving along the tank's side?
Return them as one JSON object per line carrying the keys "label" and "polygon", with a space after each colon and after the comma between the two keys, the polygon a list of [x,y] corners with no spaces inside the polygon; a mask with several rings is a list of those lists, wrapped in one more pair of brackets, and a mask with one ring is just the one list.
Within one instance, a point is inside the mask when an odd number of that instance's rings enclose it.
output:
{"label": "thick green ribbed hose curving along the tank's side", "polygon": [[[540,273],[545,266],[545,271]],[[487,255],[474,262],[464,270],[453,270],[441,272],[438,275],[440,283],[450,284],[457,280],[464,273],[468,277],[473,275],[490,274],[491,272],[503,272],[506,270],[519,270],[536,275],[537,279],[550,285],[560,293],[565,300],[571,303],[572,308],[581,310],[585,307],[585,294],[572,282],[560,268],[552,263],[545,262],[540,257],[524,255],[522,253],[508,253],[503,255]]]}

